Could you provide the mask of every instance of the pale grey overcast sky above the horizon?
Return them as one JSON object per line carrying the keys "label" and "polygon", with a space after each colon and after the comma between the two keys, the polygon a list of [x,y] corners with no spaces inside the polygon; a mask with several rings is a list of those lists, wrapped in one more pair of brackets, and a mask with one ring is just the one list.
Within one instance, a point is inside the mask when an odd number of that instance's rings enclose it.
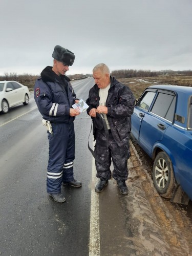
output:
{"label": "pale grey overcast sky above the horizon", "polygon": [[191,0],[0,0],[0,75],[38,75],[56,45],[76,58],[69,74],[190,70]]}

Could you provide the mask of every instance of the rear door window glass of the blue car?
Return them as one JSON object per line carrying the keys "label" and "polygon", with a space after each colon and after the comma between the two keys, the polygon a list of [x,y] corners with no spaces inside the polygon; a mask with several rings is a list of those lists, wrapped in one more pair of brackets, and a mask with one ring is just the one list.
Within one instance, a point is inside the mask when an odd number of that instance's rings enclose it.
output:
{"label": "rear door window glass of the blue car", "polygon": [[166,93],[158,93],[152,113],[161,116],[169,121],[173,121],[175,113],[176,96]]}

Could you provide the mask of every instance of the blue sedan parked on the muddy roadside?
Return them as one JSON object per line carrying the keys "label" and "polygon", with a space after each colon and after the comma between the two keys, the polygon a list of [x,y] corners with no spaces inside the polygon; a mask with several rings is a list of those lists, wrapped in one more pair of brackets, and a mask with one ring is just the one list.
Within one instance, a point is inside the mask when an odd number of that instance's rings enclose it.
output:
{"label": "blue sedan parked on the muddy roadside", "polygon": [[192,200],[192,88],[148,87],[136,102],[131,133],[154,160],[158,193],[173,202]]}

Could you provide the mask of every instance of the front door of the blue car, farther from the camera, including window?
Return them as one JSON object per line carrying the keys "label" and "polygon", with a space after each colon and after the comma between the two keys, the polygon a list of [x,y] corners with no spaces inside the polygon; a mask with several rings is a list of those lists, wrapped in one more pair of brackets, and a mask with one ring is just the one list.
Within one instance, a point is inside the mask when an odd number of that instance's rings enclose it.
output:
{"label": "front door of the blue car, farther from the camera, including window", "polygon": [[157,89],[147,89],[137,101],[132,115],[132,136],[139,142],[139,132],[144,115],[150,109]]}

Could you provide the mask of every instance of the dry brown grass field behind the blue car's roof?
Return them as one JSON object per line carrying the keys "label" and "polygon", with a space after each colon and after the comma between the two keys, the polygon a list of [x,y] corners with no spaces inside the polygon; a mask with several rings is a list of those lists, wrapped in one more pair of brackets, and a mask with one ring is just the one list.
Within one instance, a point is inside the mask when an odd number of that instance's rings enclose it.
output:
{"label": "dry brown grass field behind the blue car's roof", "polygon": [[137,78],[119,78],[118,81],[129,86],[134,93],[136,99],[139,98],[141,93],[149,86],[154,84],[174,84],[177,86],[192,87],[192,76],[181,75],[164,75],[156,77],[137,77]]}

